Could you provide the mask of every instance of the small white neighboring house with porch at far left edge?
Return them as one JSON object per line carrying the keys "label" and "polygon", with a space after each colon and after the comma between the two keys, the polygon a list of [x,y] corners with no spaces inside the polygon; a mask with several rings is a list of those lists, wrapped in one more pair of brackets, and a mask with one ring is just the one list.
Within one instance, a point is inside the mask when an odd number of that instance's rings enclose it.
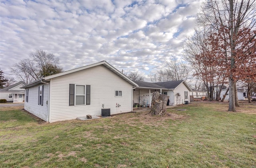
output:
{"label": "small white neighboring house with porch at far left edge", "polygon": [[25,85],[26,83],[21,81],[16,84],[0,89],[0,99],[6,99],[7,102],[13,103],[24,102],[25,89],[21,89],[21,87]]}

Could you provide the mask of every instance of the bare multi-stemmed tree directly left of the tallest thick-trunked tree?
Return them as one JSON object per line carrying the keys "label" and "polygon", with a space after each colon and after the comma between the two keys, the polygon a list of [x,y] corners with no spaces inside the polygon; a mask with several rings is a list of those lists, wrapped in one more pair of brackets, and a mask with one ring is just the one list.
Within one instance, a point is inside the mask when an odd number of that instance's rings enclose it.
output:
{"label": "bare multi-stemmed tree directly left of the tallest thick-trunked tree", "polygon": [[[219,70],[218,65],[213,61],[206,60],[206,57],[212,55],[213,46],[208,41],[208,35],[212,31],[202,26],[195,29],[194,35],[187,37],[184,47],[184,59],[191,64],[194,69],[194,76],[203,81],[204,88],[207,90],[208,100],[219,100],[220,92],[224,85],[225,76],[223,71]],[[220,87],[219,87],[220,85]],[[214,87],[218,87],[216,92]]]}

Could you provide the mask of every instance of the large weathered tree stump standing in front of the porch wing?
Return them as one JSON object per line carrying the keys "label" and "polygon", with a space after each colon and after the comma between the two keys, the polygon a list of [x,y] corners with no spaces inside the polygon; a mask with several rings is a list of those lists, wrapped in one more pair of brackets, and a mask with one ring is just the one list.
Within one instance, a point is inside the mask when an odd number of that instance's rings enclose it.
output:
{"label": "large weathered tree stump standing in front of the porch wing", "polygon": [[168,102],[169,96],[161,94],[159,92],[154,92],[151,102],[150,115],[166,115],[166,104]]}

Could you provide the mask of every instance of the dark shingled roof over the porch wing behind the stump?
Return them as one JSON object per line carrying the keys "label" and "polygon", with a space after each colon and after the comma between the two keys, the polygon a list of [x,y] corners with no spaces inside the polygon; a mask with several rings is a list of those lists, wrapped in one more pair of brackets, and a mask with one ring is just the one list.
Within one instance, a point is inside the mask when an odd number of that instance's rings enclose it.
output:
{"label": "dark shingled roof over the porch wing behind the stump", "polygon": [[168,81],[168,82],[156,82],[156,83],[150,83],[150,82],[142,82],[142,81],[135,81],[136,84],[138,84],[140,88],[152,88],[152,89],[170,89],[174,90],[177,88],[180,84],[184,83],[186,87],[192,91],[192,89],[188,86],[188,84],[185,82],[185,80],[176,80],[176,81]]}

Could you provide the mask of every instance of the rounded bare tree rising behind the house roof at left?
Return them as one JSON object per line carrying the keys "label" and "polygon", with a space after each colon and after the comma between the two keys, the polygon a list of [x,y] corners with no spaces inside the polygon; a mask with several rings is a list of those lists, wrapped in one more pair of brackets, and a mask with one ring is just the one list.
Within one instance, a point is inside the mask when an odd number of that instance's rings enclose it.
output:
{"label": "rounded bare tree rising behind the house roof at left", "polygon": [[47,54],[43,50],[36,50],[36,52],[30,53],[29,57],[15,63],[14,68],[11,68],[12,73],[26,83],[62,72],[62,67],[58,65],[59,59],[51,53]]}

